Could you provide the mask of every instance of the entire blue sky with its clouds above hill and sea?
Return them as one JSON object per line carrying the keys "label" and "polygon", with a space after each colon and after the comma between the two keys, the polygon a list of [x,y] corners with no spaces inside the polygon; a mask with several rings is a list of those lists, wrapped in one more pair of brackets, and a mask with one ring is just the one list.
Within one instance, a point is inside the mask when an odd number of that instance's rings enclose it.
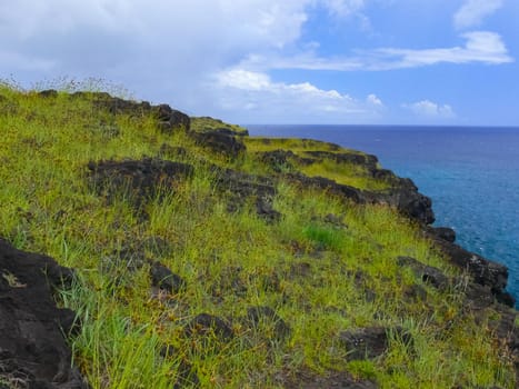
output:
{"label": "entire blue sky with its clouds above hill and sea", "polygon": [[240,124],[519,126],[518,60],[518,0],[0,0],[0,80]]}

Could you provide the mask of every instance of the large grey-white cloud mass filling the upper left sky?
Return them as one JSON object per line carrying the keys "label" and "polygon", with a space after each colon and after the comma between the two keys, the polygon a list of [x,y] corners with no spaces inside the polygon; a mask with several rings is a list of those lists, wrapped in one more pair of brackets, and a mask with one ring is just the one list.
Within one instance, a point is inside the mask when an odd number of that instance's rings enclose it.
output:
{"label": "large grey-white cloud mass filling the upper left sky", "polygon": [[8,61],[0,72],[17,72],[23,58],[50,64],[38,78],[98,76],[189,92],[249,52],[298,39],[309,1],[1,1],[0,53]]}

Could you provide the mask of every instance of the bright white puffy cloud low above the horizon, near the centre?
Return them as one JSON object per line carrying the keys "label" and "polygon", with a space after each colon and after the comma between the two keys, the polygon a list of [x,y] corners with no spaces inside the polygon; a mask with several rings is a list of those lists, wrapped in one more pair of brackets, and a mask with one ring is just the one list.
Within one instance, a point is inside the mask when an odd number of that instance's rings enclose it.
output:
{"label": "bright white puffy cloud low above the horizon, near the centre", "polygon": [[216,77],[219,108],[243,112],[241,122],[350,122],[373,121],[382,101],[369,94],[357,100],[337,90],[322,90],[309,82],[276,82],[261,72],[229,69]]}

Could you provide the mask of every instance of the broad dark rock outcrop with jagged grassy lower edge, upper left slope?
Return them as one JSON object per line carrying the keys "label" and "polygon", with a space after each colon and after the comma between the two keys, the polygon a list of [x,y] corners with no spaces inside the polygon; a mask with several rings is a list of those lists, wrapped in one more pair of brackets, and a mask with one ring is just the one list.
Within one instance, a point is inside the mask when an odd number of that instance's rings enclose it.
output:
{"label": "broad dark rock outcrop with jagged grassy lower edge, upper left slope", "polygon": [[152,158],[90,162],[88,168],[90,182],[98,194],[109,201],[123,194],[137,206],[152,199],[159,189],[173,190],[179,181],[193,172],[190,164]]}

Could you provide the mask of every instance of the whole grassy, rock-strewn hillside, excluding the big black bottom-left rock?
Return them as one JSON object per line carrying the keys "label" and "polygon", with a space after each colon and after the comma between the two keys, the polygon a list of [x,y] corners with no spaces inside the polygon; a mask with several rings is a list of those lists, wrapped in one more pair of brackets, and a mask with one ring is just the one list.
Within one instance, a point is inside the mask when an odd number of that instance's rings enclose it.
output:
{"label": "whole grassy, rock-strewn hillside, excluding the big black bottom-left rock", "polygon": [[0,137],[0,237],[74,269],[54,295],[92,388],[516,386],[507,269],[373,156],[7,86]]}

